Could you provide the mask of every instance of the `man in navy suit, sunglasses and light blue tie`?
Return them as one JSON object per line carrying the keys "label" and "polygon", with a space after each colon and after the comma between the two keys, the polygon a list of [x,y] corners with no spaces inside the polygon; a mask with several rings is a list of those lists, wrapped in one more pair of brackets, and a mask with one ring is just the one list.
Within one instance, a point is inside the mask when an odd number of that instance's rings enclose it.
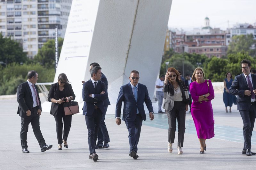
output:
{"label": "man in navy suit, sunglasses and light blue tie", "polygon": [[150,98],[148,97],[148,89],[145,85],[139,82],[139,72],[133,70],[130,74],[128,84],[121,86],[120,92],[116,101],[116,124],[121,125],[121,108],[124,102],[123,120],[129,132],[130,152],[129,156],[137,159],[138,143],[140,139],[140,129],[142,120],[146,120],[144,110],[144,102],[149,111],[149,118],[154,119],[153,107]]}

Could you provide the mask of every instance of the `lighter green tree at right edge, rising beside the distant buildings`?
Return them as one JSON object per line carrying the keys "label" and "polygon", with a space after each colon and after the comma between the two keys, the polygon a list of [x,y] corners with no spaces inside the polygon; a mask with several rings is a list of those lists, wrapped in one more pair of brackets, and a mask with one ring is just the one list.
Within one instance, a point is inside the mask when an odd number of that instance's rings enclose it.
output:
{"label": "lighter green tree at right edge, rising beside the distant buildings", "polygon": [[252,34],[235,35],[232,37],[232,42],[228,46],[228,54],[236,54],[238,52],[248,52],[251,56],[256,56],[256,50],[252,49],[256,41]]}

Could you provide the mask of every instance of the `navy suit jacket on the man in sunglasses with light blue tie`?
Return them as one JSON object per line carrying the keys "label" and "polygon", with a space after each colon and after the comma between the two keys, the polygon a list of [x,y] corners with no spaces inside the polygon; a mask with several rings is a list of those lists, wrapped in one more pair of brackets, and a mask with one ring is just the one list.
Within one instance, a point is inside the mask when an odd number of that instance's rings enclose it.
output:
{"label": "navy suit jacket on the man in sunglasses with light blue tie", "polygon": [[149,112],[154,112],[150,98],[148,97],[148,89],[145,85],[138,83],[138,99],[137,102],[132,93],[131,84],[121,86],[119,95],[116,101],[116,117],[121,116],[122,103],[124,101],[123,120],[126,122],[133,122],[137,116],[137,108],[142,119],[146,120],[144,110],[144,102]]}

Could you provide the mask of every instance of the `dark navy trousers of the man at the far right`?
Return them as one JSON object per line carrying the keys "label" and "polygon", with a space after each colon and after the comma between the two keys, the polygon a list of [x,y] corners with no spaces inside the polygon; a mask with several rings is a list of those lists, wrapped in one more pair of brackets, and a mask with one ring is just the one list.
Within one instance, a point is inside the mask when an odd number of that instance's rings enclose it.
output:
{"label": "dark navy trousers of the man at the far right", "polygon": [[243,119],[244,127],[244,149],[251,149],[251,138],[252,138],[252,130],[254,127],[255,117],[256,117],[256,102],[254,102],[249,111],[239,110],[240,115]]}

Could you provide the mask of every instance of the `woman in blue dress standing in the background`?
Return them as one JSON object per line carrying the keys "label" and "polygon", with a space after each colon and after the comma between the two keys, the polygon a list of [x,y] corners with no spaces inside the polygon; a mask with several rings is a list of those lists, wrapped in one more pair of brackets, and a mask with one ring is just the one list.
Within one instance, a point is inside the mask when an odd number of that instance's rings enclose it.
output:
{"label": "woman in blue dress standing in the background", "polygon": [[233,79],[232,79],[231,72],[226,73],[226,78],[224,79],[224,92],[223,92],[223,102],[226,107],[226,113],[228,113],[228,106],[229,106],[229,112],[231,113],[231,107],[233,105],[233,98],[235,97],[232,94],[229,94],[228,89],[232,85]]}

